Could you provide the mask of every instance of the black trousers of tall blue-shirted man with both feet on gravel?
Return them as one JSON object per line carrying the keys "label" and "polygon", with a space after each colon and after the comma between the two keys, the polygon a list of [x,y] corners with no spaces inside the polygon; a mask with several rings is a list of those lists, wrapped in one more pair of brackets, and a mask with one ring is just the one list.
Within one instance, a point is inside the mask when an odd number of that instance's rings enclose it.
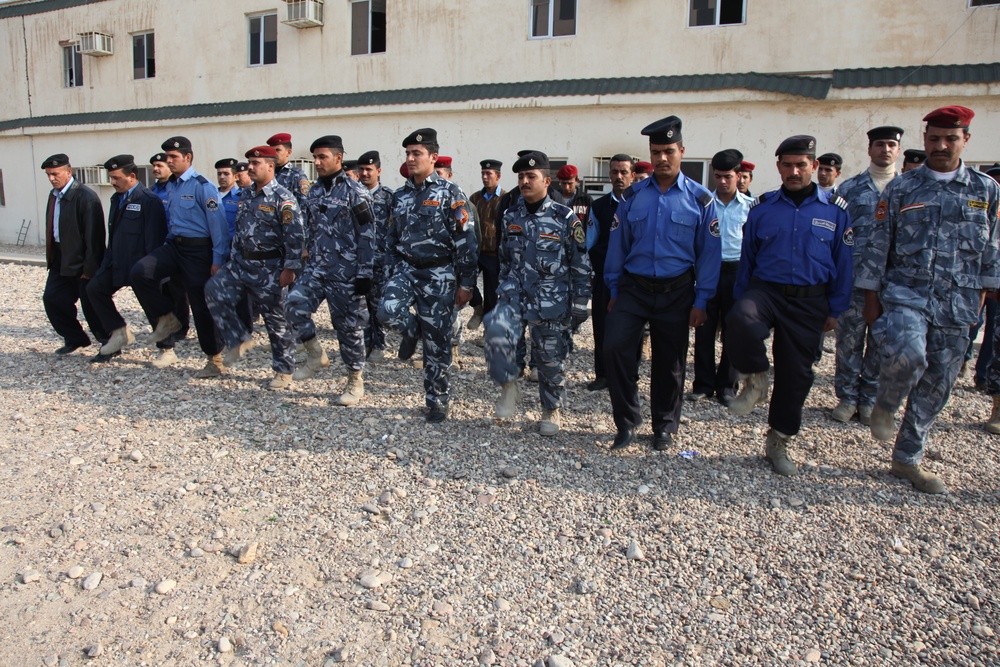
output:
{"label": "black trousers of tall blue-shirted man with both feet on gravel", "polygon": [[653,431],[677,432],[692,305],[694,285],[691,283],[656,294],[640,288],[627,275],[619,281],[618,299],[608,313],[604,334],[608,389],[619,431],[634,429],[642,422],[636,350],[642,347],[642,330],[648,322],[653,352],[649,378]]}

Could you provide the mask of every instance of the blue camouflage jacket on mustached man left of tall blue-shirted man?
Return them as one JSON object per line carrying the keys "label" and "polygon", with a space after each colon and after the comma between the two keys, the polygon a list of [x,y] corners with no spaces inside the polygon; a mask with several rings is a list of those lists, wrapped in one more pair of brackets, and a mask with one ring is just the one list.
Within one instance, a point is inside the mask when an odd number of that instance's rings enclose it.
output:
{"label": "blue camouflage jacket on mustached man left of tall blue-shirted man", "polygon": [[586,310],[590,258],[583,223],[568,206],[548,197],[529,213],[524,199],[503,216],[500,298],[519,304],[530,321],[565,320]]}

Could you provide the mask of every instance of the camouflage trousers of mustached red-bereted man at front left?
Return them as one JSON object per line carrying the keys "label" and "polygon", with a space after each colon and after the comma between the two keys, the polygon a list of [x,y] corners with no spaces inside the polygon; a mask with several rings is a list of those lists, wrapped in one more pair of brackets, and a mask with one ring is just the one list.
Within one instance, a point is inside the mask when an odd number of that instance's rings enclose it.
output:
{"label": "camouflage trousers of mustached red-bereted man at front left", "polygon": [[295,370],[295,341],[285,323],[286,289],[278,283],[280,275],[280,259],[235,258],[205,283],[205,301],[226,347],[238,347],[251,335],[237,313],[249,293],[271,341],[271,368],[287,374]]}

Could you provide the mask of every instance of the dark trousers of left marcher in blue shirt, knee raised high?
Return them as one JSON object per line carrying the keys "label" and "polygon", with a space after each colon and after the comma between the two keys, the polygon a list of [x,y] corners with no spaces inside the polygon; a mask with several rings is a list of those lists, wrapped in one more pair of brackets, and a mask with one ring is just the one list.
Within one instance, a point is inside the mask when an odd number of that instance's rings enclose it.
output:
{"label": "dark trousers of left marcher in blue shirt, knee raised high", "polygon": [[161,283],[179,275],[191,304],[201,351],[216,355],[222,352],[222,338],[205,303],[205,283],[211,272],[212,246],[181,246],[167,241],[135,263],[129,282],[146,315],[159,320],[174,310],[173,300],[160,289]]}

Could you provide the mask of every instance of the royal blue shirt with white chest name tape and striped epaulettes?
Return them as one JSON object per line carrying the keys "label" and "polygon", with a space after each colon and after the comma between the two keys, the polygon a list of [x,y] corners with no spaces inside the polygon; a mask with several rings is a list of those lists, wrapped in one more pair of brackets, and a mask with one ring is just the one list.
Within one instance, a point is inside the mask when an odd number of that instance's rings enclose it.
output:
{"label": "royal blue shirt with white chest name tape and striped epaulettes", "polygon": [[847,202],[817,187],[796,207],[780,189],[765,193],[747,215],[743,254],[733,286],[739,299],[757,278],[785,285],[829,284],[830,317],[851,303],[851,248]]}

